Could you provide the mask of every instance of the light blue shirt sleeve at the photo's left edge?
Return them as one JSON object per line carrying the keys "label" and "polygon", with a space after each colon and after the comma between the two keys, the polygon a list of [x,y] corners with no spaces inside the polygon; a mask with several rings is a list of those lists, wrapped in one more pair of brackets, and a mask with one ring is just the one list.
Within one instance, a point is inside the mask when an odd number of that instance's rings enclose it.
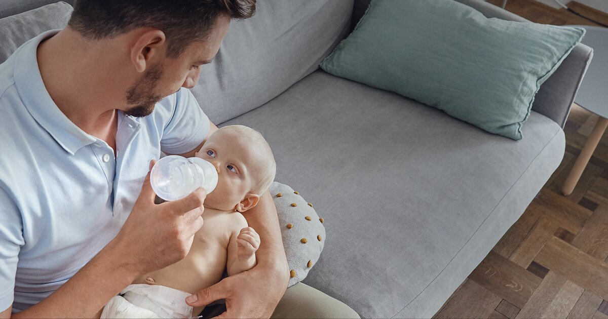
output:
{"label": "light blue shirt sleeve at the photo's left edge", "polygon": [[0,187],[0,312],[15,298],[15,274],[23,240],[21,213],[12,197]]}

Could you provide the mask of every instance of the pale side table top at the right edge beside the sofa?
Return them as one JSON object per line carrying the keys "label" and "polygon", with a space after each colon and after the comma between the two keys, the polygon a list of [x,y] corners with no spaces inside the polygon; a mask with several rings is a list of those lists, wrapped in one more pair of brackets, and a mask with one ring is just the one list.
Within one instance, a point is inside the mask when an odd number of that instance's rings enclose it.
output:
{"label": "pale side table top at the right edge beside the sofa", "polygon": [[608,118],[608,28],[592,26],[587,30],[582,43],[593,48],[593,59],[582,79],[576,94],[576,104],[589,111]]}

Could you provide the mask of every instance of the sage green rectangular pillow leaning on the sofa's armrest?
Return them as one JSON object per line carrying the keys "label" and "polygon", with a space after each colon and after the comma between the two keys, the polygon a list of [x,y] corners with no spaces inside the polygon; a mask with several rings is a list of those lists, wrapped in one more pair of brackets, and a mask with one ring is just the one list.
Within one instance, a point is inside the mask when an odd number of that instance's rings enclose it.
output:
{"label": "sage green rectangular pillow leaning on the sofa's armrest", "polygon": [[520,140],[534,95],[584,33],[486,18],[453,0],[372,0],[320,66]]}

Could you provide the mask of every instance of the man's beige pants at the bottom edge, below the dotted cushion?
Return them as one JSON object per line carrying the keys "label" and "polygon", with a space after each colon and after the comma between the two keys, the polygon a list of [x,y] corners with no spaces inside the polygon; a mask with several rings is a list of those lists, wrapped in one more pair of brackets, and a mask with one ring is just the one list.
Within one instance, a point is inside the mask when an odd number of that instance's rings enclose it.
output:
{"label": "man's beige pants at the bottom edge, below the dotted cushion", "polygon": [[[209,309],[211,308],[211,309]],[[203,310],[203,318],[212,318],[221,314],[226,307],[209,306]],[[294,284],[287,289],[271,318],[356,318],[359,315],[346,304],[313,287],[303,283]]]}

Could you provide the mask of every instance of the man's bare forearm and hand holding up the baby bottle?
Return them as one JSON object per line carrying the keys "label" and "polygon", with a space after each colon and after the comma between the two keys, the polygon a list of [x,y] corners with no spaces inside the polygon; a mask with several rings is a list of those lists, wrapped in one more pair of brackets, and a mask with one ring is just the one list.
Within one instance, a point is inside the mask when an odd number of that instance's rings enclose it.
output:
{"label": "man's bare forearm and hand holding up the baby bottle", "polygon": [[139,275],[188,254],[202,227],[205,196],[199,188],[178,201],[155,205],[148,172],[118,235],[49,297],[11,318],[99,318],[103,306]]}

